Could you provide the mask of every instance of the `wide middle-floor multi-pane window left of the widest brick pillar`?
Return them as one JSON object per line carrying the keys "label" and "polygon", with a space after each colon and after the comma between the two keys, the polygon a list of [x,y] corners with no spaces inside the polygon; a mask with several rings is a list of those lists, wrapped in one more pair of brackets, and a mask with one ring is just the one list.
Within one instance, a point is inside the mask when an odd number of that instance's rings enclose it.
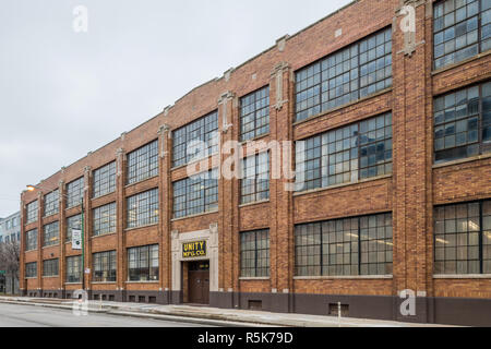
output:
{"label": "wide middle-floor multi-pane window left of the widest brick pillar", "polygon": [[390,174],[392,149],[391,113],[297,142],[297,190]]}

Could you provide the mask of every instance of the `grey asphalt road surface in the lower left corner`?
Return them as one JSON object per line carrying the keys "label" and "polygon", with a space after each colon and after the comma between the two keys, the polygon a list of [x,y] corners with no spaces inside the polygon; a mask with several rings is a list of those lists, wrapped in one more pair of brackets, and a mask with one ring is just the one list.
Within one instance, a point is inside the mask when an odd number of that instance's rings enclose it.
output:
{"label": "grey asphalt road surface in the lower left corner", "polygon": [[75,316],[69,310],[0,303],[0,327],[201,327],[201,325],[104,313]]}

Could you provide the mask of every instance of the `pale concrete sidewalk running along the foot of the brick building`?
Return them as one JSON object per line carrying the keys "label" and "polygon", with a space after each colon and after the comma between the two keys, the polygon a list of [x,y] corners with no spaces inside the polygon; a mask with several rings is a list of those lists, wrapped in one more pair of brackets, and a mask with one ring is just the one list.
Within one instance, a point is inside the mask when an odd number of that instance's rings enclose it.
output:
{"label": "pale concrete sidewalk running along the foot of the brick building", "polygon": [[[0,297],[1,303],[29,304],[71,310],[73,301],[45,298]],[[278,314],[247,310],[227,310],[190,305],[159,305],[88,301],[88,312],[122,316],[182,321],[212,326],[285,326],[285,327],[444,327],[393,321],[331,316]]]}

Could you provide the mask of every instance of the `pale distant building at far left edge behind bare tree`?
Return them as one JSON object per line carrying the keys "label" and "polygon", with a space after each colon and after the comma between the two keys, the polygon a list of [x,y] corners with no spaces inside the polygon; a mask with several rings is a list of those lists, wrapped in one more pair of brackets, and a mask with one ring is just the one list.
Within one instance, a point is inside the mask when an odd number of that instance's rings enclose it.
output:
{"label": "pale distant building at far left edge behind bare tree", "polygon": [[[21,243],[21,213],[0,218],[0,243]],[[1,269],[0,269],[1,272]],[[12,291],[12,284],[14,285]],[[0,274],[0,292],[19,293],[19,275]]]}

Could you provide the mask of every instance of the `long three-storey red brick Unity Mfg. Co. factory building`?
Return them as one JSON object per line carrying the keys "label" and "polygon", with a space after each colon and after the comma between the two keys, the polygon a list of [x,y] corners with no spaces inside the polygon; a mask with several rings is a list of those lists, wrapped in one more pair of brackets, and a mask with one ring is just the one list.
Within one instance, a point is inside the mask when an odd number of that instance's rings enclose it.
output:
{"label": "long three-storey red brick Unity Mfg. Co. factory building", "polygon": [[[22,194],[24,294],[491,325],[490,8],[354,1],[62,168]],[[196,139],[266,176],[189,178]]]}

